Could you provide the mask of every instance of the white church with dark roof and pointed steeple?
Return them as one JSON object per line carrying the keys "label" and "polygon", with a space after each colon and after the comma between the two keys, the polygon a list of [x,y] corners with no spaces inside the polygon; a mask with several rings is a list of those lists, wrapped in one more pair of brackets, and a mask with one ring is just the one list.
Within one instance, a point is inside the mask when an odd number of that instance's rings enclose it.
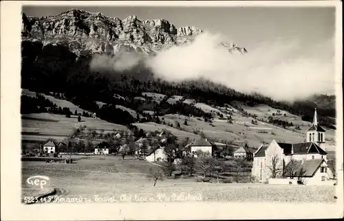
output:
{"label": "white church with dark roof and pointed steeple", "polygon": [[315,108],[312,126],[306,132],[306,142],[281,143],[274,139],[269,145],[260,146],[253,154],[252,176],[263,183],[269,178],[281,178],[282,174],[283,178],[293,178],[294,175],[286,172],[293,166],[298,170],[302,168],[299,176],[303,177],[305,184],[329,181],[333,174],[327,166],[324,143],[325,130],[319,125]]}

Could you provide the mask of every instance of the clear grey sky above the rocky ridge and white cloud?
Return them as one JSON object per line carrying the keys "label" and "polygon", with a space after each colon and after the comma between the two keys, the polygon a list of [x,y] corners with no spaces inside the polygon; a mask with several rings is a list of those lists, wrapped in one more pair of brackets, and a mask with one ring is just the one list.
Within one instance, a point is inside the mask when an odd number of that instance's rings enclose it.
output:
{"label": "clear grey sky above the rocky ridge and white cloud", "polygon": [[297,38],[302,45],[327,40],[334,34],[334,8],[206,8],[206,7],[37,7],[26,6],[27,16],[60,14],[71,8],[101,12],[125,19],[166,19],[183,27],[195,26],[211,32],[221,32],[240,47],[250,48],[271,38]]}

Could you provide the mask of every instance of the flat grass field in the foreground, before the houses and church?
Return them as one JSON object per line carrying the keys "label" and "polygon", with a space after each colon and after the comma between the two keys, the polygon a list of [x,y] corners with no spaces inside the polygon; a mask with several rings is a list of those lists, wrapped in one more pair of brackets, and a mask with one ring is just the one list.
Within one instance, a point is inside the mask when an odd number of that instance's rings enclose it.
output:
{"label": "flat grass field in the foreground, before the houses and church", "polygon": [[89,156],[89,159],[79,158],[72,164],[22,163],[22,196],[33,194],[25,183],[26,179],[41,175],[50,177],[50,188],[63,189],[61,198],[81,196],[93,202],[104,202],[110,198],[114,202],[334,202],[332,186],[215,184],[196,183],[194,179],[166,179],[158,181],[153,187],[153,181],[149,181],[146,174],[155,165],[135,159],[122,161],[118,157]]}

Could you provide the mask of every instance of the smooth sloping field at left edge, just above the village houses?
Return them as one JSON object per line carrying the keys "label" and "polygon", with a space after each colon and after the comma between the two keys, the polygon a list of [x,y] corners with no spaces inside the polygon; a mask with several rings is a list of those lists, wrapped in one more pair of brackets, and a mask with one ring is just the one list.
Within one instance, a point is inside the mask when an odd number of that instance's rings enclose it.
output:
{"label": "smooth sloping field at left edge, just above the village houses", "polygon": [[82,125],[94,130],[105,130],[105,132],[128,130],[126,126],[111,124],[93,117],[81,117],[81,122],[78,122],[78,118],[74,115],[67,118],[64,115],[51,113],[32,113],[22,115],[21,118],[21,139],[23,141],[45,141],[48,138],[63,141],[73,132],[74,128]]}

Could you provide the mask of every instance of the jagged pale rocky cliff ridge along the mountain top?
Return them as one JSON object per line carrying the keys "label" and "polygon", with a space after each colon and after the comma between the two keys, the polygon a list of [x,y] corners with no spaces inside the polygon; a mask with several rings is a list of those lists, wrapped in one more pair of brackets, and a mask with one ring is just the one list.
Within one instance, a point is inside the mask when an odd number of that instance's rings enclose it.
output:
{"label": "jagged pale rocky cliff ridge along the mountain top", "polygon": [[[64,45],[76,56],[94,53],[116,54],[122,49],[143,54],[155,54],[173,45],[193,42],[204,30],[197,27],[179,27],[165,19],[140,20],[131,15],[120,20],[102,13],[85,10],[67,10],[61,14],[41,18],[22,13],[23,41],[45,45]],[[246,53],[235,44],[220,44],[230,52]]]}

